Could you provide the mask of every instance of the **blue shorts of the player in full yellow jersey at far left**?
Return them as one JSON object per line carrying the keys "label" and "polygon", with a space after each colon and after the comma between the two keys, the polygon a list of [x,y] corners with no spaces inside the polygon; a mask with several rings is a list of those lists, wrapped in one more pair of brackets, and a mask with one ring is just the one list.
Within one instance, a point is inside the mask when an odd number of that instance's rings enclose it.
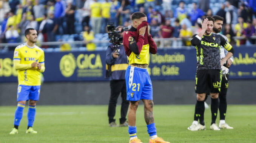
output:
{"label": "blue shorts of the player in full yellow jersey at far left", "polygon": [[40,86],[19,85],[17,90],[17,101],[39,100]]}

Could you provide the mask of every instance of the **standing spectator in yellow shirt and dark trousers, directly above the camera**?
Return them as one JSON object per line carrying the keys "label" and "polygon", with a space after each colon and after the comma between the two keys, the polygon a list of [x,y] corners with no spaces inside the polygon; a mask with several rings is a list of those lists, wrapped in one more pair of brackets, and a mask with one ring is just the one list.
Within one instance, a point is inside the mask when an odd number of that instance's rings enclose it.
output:
{"label": "standing spectator in yellow shirt and dark trousers, directly above the camera", "polygon": [[101,9],[102,9],[101,33],[106,33],[106,26],[108,25],[108,22],[110,20],[110,7],[111,7],[111,2],[108,2],[108,0],[106,0],[101,4]]}

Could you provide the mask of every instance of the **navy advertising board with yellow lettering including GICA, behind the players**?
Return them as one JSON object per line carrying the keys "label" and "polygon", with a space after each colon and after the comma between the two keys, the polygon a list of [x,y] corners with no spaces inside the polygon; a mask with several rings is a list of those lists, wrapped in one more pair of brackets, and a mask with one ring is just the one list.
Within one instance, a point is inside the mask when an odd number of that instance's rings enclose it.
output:
{"label": "navy advertising board with yellow lettering including GICA, behind the players", "polygon": [[[0,54],[0,82],[17,82],[13,53]],[[103,81],[105,51],[46,52],[45,81]],[[148,72],[152,80],[194,80],[196,50],[158,49],[150,55]],[[230,79],[256,79],[256,48],[235,48]]]}

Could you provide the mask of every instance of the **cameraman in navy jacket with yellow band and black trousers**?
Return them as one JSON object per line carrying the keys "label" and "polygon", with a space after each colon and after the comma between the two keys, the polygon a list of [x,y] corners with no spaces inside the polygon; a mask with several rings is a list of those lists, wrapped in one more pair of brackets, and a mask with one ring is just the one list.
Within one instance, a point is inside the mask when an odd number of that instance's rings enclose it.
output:
{"label": "cameraman in navy jacket with yellow band and black trousers", "polygon": [[[116,27],[116,31],[121,32],[123,26]],[[120,33],[120,36],[123,36]],[[113,47],[111,43],[106,51],[106,64],[108,66],[109,77],[110,77],[110,89],[111,95],[108,104],[108,122],[109,126],[117,126],[114,116],[116,114],[116,104],[117,98],[121,92],[122,105],[121,105],[121,118],[119,119],[119,126],[128,126],[128,121],[126,120],[126,114],[129,106],[129,101],[126,100],[126,85],[125,85],[125,70],[128,66],[127,56],[125,54],[125,49],[121,43],[117,47]],[[108,77],[108,76],[107,76]]]}

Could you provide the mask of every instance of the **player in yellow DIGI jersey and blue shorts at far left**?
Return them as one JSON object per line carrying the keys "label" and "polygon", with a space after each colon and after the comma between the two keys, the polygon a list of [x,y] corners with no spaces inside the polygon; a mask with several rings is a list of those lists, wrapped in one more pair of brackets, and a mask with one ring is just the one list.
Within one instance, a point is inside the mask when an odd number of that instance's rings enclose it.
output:
{"label": "player in yellow DIGI jersey and blue shorts at far left", "polygon": [[36,134],[32,128],[35,120],[35,105],[40,95],[40,72],[45,71],[45,55],[41,48],[35,45],[37,31],[32,28],[25,30],[28,41],[14,50],[14,68],[18,70],[17,109],[14,114],[14,128],[10,134],[17,134],[23,109],[28,102],[28,129],[26,133]]}

